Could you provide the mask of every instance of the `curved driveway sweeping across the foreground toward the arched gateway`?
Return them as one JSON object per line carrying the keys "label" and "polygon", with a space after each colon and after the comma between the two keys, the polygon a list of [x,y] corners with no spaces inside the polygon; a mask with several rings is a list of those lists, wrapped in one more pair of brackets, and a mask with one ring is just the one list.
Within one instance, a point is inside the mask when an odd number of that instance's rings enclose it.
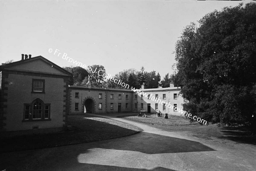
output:
{"label": "curved driveway sweeping across the foreground toward the arched gateway", "polygon": [[255,171],[255,145],[204,140],[187,132],[162,131],[143,123],[109,118],[144,131],[112,140],[0,154],[0,160],[7,166],[6,171]]}

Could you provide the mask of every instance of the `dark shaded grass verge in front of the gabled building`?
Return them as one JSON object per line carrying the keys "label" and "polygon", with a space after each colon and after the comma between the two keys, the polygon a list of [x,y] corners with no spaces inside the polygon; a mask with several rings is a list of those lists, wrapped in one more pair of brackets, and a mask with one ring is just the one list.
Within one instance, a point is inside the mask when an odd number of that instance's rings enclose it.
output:
{"label": "dark shaded grass verge in front of the gabled building", "polygon": [[84,115],[68,116],[68,124],[76,130],[54,134],[23,135],[11,138],[0,138],[0,152],[33,150],[84,142],[109,140],[137,134],[142,129],[105,118]]}

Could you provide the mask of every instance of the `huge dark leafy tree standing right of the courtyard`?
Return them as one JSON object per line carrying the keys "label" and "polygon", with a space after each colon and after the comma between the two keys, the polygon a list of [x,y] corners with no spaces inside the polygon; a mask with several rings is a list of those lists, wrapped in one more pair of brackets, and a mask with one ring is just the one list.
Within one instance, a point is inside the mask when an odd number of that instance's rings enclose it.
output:
{"label": "huge dark leafy tree standing right of the courtyard", "polygon": [[[176,44],[184,109],[208,121],[250,123],[256,111],[256,4],[213,11]],[[255,113],[254,113],[255,116]],[[256,127],[256,126],[255,126]]]}

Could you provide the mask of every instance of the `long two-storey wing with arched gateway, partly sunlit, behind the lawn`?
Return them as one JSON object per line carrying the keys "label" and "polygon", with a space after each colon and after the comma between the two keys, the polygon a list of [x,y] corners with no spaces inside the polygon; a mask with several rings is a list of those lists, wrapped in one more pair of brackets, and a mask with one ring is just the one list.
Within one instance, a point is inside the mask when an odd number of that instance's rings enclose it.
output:
{"label": "long two-storey wing with arched gateway, partly sunlit, behind the lawn", "polygon": [[[140,89],[137,93],[131,89],[91,88],[69,86],[69,114],[145,112],[168,113],[181,115],[177,108],[182,109],[183,98],[177,87]],[[152,100],[154,99],[154,100]],[[164,102],[164,103],[162,103]],[[177,108],[168,108],[171,104]]]}

